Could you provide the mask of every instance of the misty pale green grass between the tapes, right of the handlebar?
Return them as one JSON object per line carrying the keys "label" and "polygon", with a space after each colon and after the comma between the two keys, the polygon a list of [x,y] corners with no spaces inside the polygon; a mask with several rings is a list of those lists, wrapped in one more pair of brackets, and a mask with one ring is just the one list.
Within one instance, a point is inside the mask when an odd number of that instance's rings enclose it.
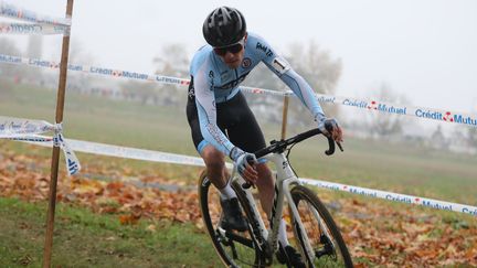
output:
{"label": "misty pale green grass between the tapes, right of the handlebar", "polygon": [[314,156],[316,148],[325,150],[315,141],[299,144],[292,158],[301,176],[477,204],[475,159],[362,140],[348,140],[346,151],[331,158]]}

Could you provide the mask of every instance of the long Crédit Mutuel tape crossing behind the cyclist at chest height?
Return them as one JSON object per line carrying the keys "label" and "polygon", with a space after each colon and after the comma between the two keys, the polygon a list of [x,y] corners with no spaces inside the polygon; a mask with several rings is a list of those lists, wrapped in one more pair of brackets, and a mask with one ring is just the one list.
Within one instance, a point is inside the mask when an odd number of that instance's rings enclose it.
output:
{"label": "long Cr\u00e9dit Mutuel tape crossing behind the cyclist at chest height", "polygon": [[[11,63],[11,64],[25,64],[30,66],[44,67],[44,68],[59,68],[59,64],[54,62],[41,61],[35,58],[24,58],[24,57],[10,56],[3,54],[0,54],[0,62]],[[188,86],[190,84],[189,79],[183,79],[183,78],[161,76],[161,75],[148,75],[148,74],[140,74],[135,72],[103,68],[103,67],[95,67],[95,66],[87,66],[87,65],[68,64],[67,68],[70,71],[78,71],[83,73],[105,75],[105,76],[110,76],[116,78],[123,77],[129,79],[149,81],[149,82],[156,82],[161,84],[180,85],[180,86]],[[252,94],[295,96],[292,90],[276,92],[271,89],[253,88],[253,87],[241,87],[241,88],[242,90]],[[435,108],[425,108],[418,106],[394,105],[394,104],[379,101],[379,100],[363,100],[363,99],[356,99],[356,98],[337,97],[337,96],[324,95],[324,94],[317,94],[317,98],[320,103],[324,104],[344,105],[344,106],[361,108],[370,111],[380,111],[380,112],[392,114],[392,115],[406,115],[406,116],[413,116],[422,119],[439,120],[439,121],[477,127],[477,116],[470,114],[448,111],[448,110],[435,109]]]}

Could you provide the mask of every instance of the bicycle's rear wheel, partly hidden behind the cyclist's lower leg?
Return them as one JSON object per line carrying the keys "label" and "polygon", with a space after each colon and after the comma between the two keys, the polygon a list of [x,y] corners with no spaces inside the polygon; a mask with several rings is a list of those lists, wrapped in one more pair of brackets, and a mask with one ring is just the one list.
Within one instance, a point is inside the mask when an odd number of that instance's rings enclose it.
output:
{"label": "bicycle's rear wheel, partly hidden behind the cyclist's lower leg", "polygon": [[[256,249],[252,231],[237,232],[220,226],[222,207],[220,192],[202,172],[199,179],[199,200],[202,221],[212,239],[215,251],[227,267],[262,267],[259,253]],[[243,211],[243,208],[242,208]]]}

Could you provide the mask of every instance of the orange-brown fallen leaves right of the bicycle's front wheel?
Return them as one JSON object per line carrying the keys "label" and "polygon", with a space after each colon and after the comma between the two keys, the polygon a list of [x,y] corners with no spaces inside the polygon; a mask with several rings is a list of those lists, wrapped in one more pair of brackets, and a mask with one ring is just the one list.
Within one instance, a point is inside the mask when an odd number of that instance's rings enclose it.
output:
{"label": "orange-brown fallen leaves right of the bicycle's front wheel", "polygon": [[[477,266],[477,228],[456,227],[438,216],[412,206],[392,210],[384,202],[342,200],[337,216],[347,218],[342,234],[354,258],[396,267]],[[350,203],[350,204],[348,204]],[[351,204],[360,204],[353,206]],[[400,206],[401,207],[401,206]],[[349,217],[368,213],[373,218]],[[336,216],[336,217],[337,217]],[[458,219],[455,215],[455,221]],[[463,226],[466,226],[463,224]]]}

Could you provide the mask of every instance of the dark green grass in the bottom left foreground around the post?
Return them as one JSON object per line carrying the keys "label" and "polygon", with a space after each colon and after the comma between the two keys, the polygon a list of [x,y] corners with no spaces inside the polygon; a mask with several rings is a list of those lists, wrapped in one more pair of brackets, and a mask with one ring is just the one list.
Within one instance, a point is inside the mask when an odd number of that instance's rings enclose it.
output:
{"label": "dark green grass in the bottom left foreground around the post", "polygon": [[[0,267],[42,266],[45,214],[46,203],[0,199]],[[190,224],[120,225],[117,215],[57,204],[52,267],[220,267],[211,247]]]}

